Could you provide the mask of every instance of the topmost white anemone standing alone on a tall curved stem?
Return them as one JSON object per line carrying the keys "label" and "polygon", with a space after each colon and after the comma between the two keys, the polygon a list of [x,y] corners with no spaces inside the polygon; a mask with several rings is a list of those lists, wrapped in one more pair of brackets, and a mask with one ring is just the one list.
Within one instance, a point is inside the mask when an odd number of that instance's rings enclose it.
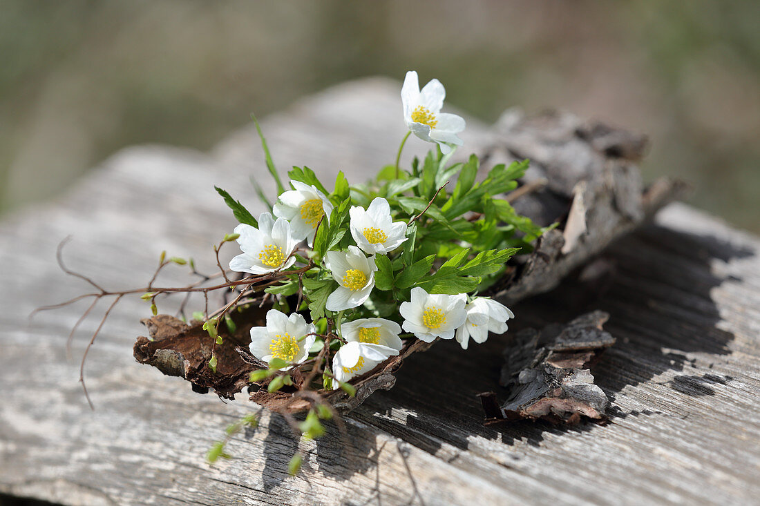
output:
{"label": "topmost white anemone standing alone on a tall curved stem", "polygon": [[446,90],[438,79],[429,81],[420,90],[416,71],[407,72],[401,87],[401,103],[404,106],[404,122],[407,128],[423,141],[437,142],[441,152],[451,152],[451,145],[464,144],[457,134],[464,130],[461,116],[441,112]]}

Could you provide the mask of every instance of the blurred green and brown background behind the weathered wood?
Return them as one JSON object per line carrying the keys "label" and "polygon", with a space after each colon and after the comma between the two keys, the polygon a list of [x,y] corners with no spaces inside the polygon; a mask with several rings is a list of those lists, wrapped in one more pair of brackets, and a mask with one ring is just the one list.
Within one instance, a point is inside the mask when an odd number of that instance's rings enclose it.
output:
{"label": "blurred green and brown background behind the weathered wood", "polygon": [[760,232],[757,0],[0,0],[0,55],[5,212],[120,147],[207,149],[252,111],[416,69],[488,122],[562,107],[650,134],[647,179]]}

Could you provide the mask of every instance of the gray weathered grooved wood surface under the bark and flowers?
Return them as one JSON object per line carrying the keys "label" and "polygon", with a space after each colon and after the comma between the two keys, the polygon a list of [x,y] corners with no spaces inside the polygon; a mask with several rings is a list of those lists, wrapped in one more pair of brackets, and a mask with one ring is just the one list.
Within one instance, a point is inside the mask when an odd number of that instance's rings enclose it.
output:
{"label": "gray weathered grooved wood surface under the bark and flowers", "polygon": [[[264,129],[278,165],[361,178],[392,160],[404,133],[398,89],[357,81],[271,116]],[[488,135],[470,121],[466,151]],[[407,159],[426,148],[407,147]],[[235,224],[212,185],[256,207],[252,174],[269,185],[251,128],[211,153],[134,147],[59,201],[0,222],[0,492],[63,504],[760,501],[760,239],[684,205],[513,308],[515,329],[610,313],[605,329],[618,343],[592,369],[612,401],[609,425],[484,428],[475,396],[496,388],[506,334],[467,352],[443,342],[410,357],[391,391],[347,417],[347,441],[333,431],[307,447],[295,478],[285,467],[296,443],[267,413],[261,428],[234,438],[234,460],[208,466],[207,447],[254,406],[195,394],[138,365],[131,345],[147,312],[139,300],[117,307],[90,353],[90,411],[78,357],[97,319],[74,340],[74,359],[65,341],[86,304],[26,321],[37,305],[86,288],[58,270],[55,246],[73,235],[70,267],[108,287],[144,283],[162,249],[211,270],[211,244]]]}

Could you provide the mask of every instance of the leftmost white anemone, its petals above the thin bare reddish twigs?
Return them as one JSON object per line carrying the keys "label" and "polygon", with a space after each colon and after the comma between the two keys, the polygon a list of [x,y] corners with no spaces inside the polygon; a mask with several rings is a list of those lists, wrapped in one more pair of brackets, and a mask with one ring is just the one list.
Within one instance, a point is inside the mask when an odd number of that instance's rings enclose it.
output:
{"label": "leftmost white anemone, its petals above the thin bare reddish twigs", "polygon": [[230,269],[236,272],[267,274],[287,269],[296,261],[296,257],[290,254],[298,241],[293,238],[290,223],[284,218],[275,221],[270,213],[261,213],[258,229],[240,223],[235,227],[235,233],[240,234],[237,242],[242,250],[242,255],[230,261]]}

